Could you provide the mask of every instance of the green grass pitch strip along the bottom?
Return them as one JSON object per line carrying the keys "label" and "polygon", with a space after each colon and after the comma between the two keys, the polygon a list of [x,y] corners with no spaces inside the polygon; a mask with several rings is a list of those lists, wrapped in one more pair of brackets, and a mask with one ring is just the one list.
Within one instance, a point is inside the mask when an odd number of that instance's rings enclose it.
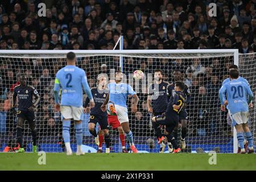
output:
{"label": "green grass pitch strip along the bottom", "polygon": [[254,154],[217,154],[217,164],[208,154],[85,154],[67,156],[46,153],[46,165],[38,154],[0,153],[0,170],[256,170]]}

